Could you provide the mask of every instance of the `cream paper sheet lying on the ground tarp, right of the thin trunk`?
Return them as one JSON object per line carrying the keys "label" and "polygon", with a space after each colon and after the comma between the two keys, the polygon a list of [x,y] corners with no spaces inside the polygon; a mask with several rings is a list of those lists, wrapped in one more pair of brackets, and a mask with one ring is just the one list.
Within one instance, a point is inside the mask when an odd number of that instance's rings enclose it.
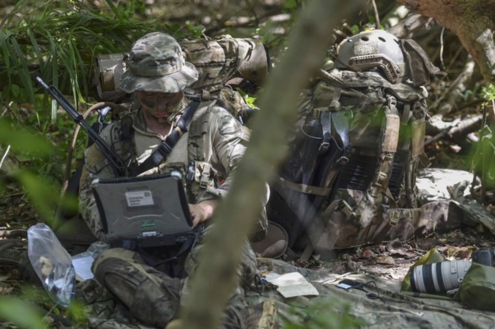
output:
{"label": "cream paper sheet lying on the ground tarp, right of the thin trunk", "polygon": [[285,298],[304,295],[319,295],[311,283],[299,272],[291,272],[276,277],[265,277],[268,282],[277,285],[277,291]]}

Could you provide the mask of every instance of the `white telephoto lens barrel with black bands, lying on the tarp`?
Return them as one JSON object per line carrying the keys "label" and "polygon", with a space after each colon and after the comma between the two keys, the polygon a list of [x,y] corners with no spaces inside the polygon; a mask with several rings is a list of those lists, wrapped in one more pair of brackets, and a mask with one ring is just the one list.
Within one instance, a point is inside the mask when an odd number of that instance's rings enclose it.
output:
{"label": "white telephoto lens barrel with black bands, lying on the tarp", "polygon": [[411,271],[411,289],[422,293],[444,293],[458,288],[470,266],[470,261],[418,265]]}

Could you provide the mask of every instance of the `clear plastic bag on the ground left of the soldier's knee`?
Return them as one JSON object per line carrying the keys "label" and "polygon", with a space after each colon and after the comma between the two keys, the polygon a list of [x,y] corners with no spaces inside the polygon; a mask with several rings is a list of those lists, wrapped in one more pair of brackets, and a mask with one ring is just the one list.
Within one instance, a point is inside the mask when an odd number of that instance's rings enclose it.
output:
{"label": "clear plastic bag on the ground left of the soldier's knee", "polygon": [[69,252],[43,223],[27,230],[27,254],[43,287],[61,306],[69,306],[75,291],[75,271]]}

